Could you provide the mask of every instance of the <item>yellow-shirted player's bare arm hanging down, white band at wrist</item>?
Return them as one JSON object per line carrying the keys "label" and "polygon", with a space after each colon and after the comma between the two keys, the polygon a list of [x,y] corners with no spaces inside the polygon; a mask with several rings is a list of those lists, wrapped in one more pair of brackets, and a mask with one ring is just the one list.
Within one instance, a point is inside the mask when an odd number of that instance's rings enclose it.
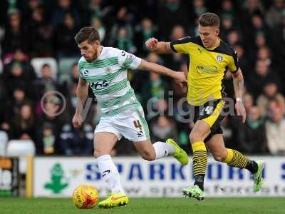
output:
{"label": "yellow-shirted player's bare arm hanging down, white band at wrist", "polygon": [[247,117],[245,108],[244,108],[244,76],[242,75],[242,71],[239,68],[239,70],[236,73],[232,74],[233,81],[234,81],[234,93],[236,96],[236,104],[235,108],[237,111],[237,115],[242,116],[242,123],[245,122],[245,119]]}

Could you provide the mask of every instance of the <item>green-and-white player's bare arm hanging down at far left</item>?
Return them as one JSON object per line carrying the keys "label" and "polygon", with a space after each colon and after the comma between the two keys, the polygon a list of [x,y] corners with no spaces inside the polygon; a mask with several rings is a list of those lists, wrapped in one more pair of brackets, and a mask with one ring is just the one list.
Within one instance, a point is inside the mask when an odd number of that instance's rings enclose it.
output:
{"label": "green-and-white player's bare arm hanging down at far left", "polygon": [[77,97],[76,113],[72,119],[72,123],[75,128],[80,128],[83,124],[83,116],[82,116],[83,104],[86,102],[87,96],[88,96],[88,83],[82,78],[79,78],[77,91],[76,91],[76,97]]}

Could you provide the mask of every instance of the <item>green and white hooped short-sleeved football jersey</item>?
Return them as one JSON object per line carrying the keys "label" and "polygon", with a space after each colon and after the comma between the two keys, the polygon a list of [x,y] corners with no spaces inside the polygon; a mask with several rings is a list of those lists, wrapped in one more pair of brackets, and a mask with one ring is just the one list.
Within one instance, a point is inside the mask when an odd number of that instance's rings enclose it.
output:
{"label": "green and white hooped short-sleeved football jersey", "polygon": [[138,108],[140,104],[128,81],[127,71],[138,68],[140,63],[141,58],[112,47],[103,47],[100,56],[90,63],[81,57],[78,62],[80,78],[89,83],[103,116]]}

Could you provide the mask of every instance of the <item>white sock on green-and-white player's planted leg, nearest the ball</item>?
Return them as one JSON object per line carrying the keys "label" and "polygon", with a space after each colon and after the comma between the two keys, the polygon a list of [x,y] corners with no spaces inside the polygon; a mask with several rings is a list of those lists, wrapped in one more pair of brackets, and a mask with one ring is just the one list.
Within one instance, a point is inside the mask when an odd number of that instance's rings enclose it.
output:
{"label": "white sock on green-and-white player's planted leg, nearest the ball", "polygon": [[112,193],[125,194],[122,185],[120,184],[120,175],[118,169],[115,167],[111,156],[100,156],[97,158],[97,163],[102,178],[106,183],[108,183]]}

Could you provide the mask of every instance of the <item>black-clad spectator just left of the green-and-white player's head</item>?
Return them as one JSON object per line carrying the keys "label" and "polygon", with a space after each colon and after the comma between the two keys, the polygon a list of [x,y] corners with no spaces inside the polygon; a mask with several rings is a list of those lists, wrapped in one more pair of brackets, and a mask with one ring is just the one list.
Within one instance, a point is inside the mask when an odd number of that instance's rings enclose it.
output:
{"label": "black-clad spectator just left of the green-and-white player's head", "polygon": [[78,32],[78,26],[71,12],[64,14],[63,23],[59,24],[55,34],[55,47],[58,58],[78,56],[78,46],[74,42],[74,35]]}

